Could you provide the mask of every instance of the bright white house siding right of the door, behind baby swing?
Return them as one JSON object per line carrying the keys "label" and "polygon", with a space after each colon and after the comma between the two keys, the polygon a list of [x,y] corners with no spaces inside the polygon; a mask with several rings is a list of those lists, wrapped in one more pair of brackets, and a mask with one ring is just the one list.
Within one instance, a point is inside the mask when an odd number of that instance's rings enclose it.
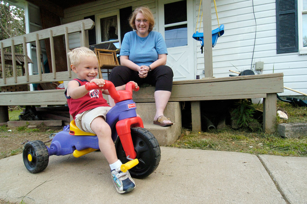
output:
{"label": "bright white house siding right of the door, behind baby swing", "polygon": [[[216,0],[219,23],[225,25],[225,33],[212,48],[213,76],[227,77],[234,74],[228,70],[255,71],[255,62],[263,61],[263,71],[257,74],[284,73],[284,86],[307,93],[307,56],[298,52],[276,54],[276,11],[275,0],[254,0],[257,22],[255,40],[255,19],[252,0]],[[196,0],[196,20],[199,1]],[[218,28],[214,2],[211,2],[212,30]],[[202,28],[200,28],[202,32]],[[253,56],[255,42],[255,50]],[[204,69],[204,57],[197,43],[197,72]],[[252,60],[253,56],[253,60]],[[252,66],[251,66],[252,65]],[[235,74],[234,74],[235,75]],[[204,75],[200,75],[204,77]],[[284,90],[280,95],[300,95]]]}

